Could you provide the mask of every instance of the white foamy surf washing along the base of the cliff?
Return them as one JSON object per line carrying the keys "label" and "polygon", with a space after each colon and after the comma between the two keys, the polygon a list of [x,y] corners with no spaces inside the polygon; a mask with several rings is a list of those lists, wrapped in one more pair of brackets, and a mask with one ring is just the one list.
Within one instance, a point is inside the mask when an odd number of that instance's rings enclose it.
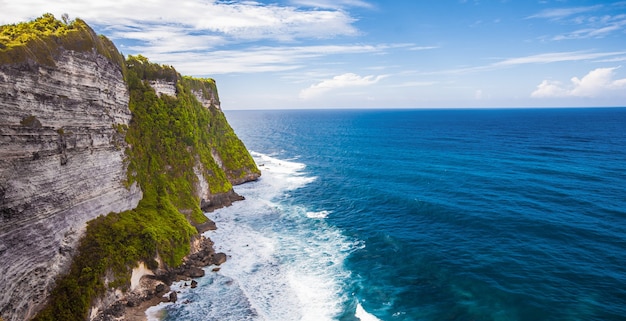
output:
{"label": "white foamy surf washing along the base of the cliff", "polygon": [[228,261],[218,272],[208,267],[197,288],[179,287],[182,303],[163,305],[165,320],[324,321],[351,306],[343,263],[359,243],[320,220],[330,211],[291,197],[316,179],[304,164],[252,155],[263,175],[237,187],[246,200],[208,213],[218,229],[205,235]]}

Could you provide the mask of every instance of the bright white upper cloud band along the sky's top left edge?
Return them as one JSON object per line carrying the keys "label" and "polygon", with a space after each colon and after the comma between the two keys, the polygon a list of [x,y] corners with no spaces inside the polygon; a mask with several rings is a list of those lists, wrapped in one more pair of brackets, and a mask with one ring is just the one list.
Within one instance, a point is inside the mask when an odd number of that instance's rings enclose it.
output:
{"label": "bright white upper cloud band along the sky's top left edge", "polygon": [[57,17],[63,13],[89,24],[107,26],[118,32],[134,28],[149,31],[155,27],[177,27],[193,34],[213,34],[225,38],[291,41],[298,38],[328,38],[356,35],[356,19],[336,9],[306,10],[295,6],[261,4],[252,1],[1,1],[0,23],[33,19],[45,12]]}

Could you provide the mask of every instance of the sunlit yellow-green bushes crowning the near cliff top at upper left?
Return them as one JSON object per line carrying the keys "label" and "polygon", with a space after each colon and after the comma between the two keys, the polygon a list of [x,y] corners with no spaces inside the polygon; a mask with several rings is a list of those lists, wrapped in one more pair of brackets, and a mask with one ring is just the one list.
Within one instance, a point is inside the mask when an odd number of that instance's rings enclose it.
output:
{"label": "sunlit yellow-green bushes crowning the near cliff top at upper left", "polygon": [[33,21],[0,26],[0,64],[34,61],[54,66],[61,50],[96,50],[120,67],[124,65],[115,45],[80,19],[63,22],[47,13]]}

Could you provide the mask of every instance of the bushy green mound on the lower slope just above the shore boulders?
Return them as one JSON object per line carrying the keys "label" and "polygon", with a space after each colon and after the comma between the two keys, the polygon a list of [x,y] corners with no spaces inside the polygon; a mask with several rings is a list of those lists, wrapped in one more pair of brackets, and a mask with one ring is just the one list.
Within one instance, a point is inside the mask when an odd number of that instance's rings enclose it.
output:
{"label": "bushy green mound on the lower slope just above the shore boulders", "polygon": [[[167,201],[142,202],[131,211],[99,216],[88,223],[69,273],[58,280],[48,304],[34,320],[86,320],[93,300],[107,286],[128,286],[130,267],[138,261],[156,267],[157,252],[179,263],[195,233]],[[112,282],[105,284],[105,276]]]}

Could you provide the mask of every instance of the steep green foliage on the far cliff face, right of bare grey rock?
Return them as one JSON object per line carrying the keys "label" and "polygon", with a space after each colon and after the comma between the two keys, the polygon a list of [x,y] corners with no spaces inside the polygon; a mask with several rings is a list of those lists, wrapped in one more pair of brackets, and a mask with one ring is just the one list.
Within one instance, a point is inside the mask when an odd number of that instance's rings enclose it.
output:
{"label": "steep green foliage on the far cliff face, right of bare grey rock", "polygon": [[[176,83],[177,97],[157,96],[145,77],[154,74],[147,71],[158,65],[142,57],[131,56],[128,61],[126,77],[133,113],[126,136],[132,146],[129,173],[136,173],[142,186],[150,184],[155,177],[166,175],[165,181],[170,186],[164,188],[178,196],[176,205],[199,210],[199,200],[192,195],[194,189],[189,185],[197,182],[193,168],[198,162],[206,169],[203,174],[213,194],[225,193],[232,188],[211,157],[212,137],[208,129],[212,114],[180,81]],[[134,177],[129,179],[132,181]]]}

